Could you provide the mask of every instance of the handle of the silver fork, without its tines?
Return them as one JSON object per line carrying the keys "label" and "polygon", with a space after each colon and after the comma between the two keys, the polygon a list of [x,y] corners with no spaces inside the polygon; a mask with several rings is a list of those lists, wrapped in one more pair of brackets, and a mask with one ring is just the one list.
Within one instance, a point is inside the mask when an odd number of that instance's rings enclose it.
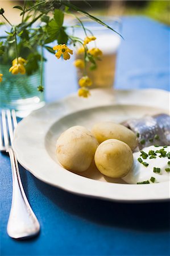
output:
{"label": "handle of the silver fork, without its tines", "polygon": [[13,199],[7,223],[7,233],[16,239],[32,237],[39,233],[40,224],[24,193],[14,151],[9,148],[8,152],[13,173]]}

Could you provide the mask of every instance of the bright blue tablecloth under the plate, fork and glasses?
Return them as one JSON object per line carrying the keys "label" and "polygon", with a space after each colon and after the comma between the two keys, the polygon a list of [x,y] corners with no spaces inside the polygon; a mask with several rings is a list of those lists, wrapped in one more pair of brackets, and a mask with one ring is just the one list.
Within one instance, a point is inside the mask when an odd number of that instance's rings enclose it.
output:
{"label": "bright blue tablecloth under the plate, fork and glasses", "polygon": [[[169,27],[144,17],[123,17],[115,88],[169,90]],[[70,61],[46,54],[48,102],[76,92]],[[9,157],[0,154],[1,255],[169,255],[169,203],[127,204],[73,195],[20,174],[41,225],[38,237],[7,236],[12,180]]]}

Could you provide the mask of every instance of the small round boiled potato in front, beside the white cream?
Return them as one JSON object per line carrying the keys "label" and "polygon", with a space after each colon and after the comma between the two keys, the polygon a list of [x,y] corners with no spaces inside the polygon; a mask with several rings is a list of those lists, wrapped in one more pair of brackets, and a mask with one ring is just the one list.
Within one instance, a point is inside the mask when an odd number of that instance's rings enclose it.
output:
{"label": "small round boiled potato in front, beside the white cream", "polygon": [[118,139],[108,139],[99,144],[94,155],[98,170],[108,177],[123,177],[133,165],[131,148]]}

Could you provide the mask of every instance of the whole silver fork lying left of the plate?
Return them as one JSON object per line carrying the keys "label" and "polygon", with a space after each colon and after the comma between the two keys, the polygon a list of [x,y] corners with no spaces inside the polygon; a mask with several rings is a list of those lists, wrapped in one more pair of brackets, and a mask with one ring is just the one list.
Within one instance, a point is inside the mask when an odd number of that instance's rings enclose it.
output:
{"label": "whole silver fork lying left of the plate", "polygon": [[[7,233],[12,238],[29,238],[39,233],[40,224],[30,204],[20,179],[18,162],[11,142],[13,141],[13,126],[17,126],[15,110],[2,110],[2,131],[0,122],[0,151],[9,153],[13,173],[13,199],[10,216],[7,223]],[[9,129],[7,129],[7,126]]]}

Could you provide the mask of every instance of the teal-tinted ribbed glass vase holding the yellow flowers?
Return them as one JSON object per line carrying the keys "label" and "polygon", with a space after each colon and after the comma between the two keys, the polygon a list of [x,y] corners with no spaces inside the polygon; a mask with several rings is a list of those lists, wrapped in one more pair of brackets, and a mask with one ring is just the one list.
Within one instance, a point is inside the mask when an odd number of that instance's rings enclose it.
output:
{"label": "teal-tinted ribbed glass vase holding the yellow flowers", "polygon": [[32,75],[13,75],[9,72],[9,65],[0,65],[3,74],[0,83],[0,108],[15,109],[20,117],[24,117],[32,110],[44,105],[44,93],[38,92],[40,85],[40,71]]}

